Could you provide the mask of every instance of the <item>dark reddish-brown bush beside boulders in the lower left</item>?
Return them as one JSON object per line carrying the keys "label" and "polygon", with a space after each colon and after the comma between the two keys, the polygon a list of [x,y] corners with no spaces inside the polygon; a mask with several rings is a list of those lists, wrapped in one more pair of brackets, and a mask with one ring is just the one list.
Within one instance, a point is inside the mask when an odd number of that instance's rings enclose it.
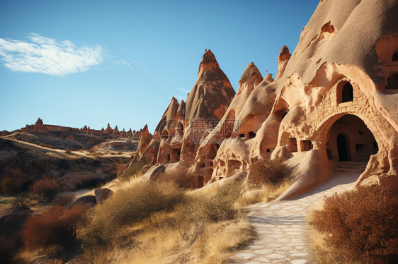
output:
{"label": "dark reddish-brown bush beside boulders in the lower left", "polygon": [[52,207],[38,215],[32,215],[23,224],[22,239],[25,248],[33,251],[40,248],[70,250],[76,245],[76,235],[84,207],[72,209]]}

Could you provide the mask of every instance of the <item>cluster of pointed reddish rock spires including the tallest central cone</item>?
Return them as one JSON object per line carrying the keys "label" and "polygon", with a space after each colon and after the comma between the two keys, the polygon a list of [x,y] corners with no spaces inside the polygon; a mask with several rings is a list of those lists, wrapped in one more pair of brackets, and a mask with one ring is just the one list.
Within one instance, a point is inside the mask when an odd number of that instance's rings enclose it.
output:
{"label": "cluster of pointed reddish rock spires including the tallest central cone", "polygon": [[199,65],[198,80],[186,102],[171,99],[152,140],[149,141],[143,133],[133,162],[143,161],[157,166],[178,163],[191,167],[195,164],[203,136],[217,126],[234,95],[235,91],[214,54],[206,49]]}

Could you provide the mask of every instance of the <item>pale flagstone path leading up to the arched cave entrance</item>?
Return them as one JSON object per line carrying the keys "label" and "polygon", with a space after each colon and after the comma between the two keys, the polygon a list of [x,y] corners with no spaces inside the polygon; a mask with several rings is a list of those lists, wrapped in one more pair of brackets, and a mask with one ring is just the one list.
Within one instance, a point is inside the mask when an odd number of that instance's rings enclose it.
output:
{"label": "pale flagstone path leading up to the arched cave entrance", "polygon": [[256,238],[244,250],[235,253],[229,263],[317,263],[309,241],[307,212],[317,208],[324,196],[353,188],[358,176],[358,172],[339,172],[295,200],[251,205],[248,218]]}

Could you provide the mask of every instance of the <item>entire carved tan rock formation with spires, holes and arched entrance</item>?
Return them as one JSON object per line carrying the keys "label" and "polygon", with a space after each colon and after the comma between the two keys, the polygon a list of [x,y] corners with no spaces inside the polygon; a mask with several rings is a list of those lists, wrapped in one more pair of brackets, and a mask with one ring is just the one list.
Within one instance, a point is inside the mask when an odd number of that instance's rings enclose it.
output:
{"label": "entire carved tan rock formation with spires, holes and arched entrance", "polygon": [[206,51],[186,103],[171,101],[140,151],[190,168],[198,186],[283,157],[296,181],[281,198],[322,183],[340,162],[368,162],[358,184],[394,185],[397,13],[397,1],[320,1],[295,51],[280,49],[275,80],[251,63],[236,95]]}

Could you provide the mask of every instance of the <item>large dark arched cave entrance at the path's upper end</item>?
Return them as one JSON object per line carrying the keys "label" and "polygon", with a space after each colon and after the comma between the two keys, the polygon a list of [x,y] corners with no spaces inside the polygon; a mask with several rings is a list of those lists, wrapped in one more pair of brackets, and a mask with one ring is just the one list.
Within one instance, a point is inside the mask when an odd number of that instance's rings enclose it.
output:
{"label": "large dark arched cave entrance at the path's upper end", "polygon": [[329,129],[326,154],[336,162],[368,162],[370,155],[378,152],[373,133],[362,119],[345,114]]}

